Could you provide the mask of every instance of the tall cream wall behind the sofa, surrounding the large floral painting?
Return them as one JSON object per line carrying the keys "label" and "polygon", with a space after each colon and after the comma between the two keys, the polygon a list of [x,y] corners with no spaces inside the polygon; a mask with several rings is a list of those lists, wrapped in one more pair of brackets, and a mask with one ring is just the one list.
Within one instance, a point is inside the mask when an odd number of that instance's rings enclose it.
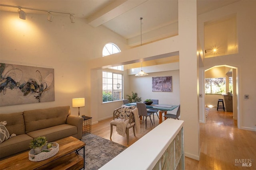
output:
{"label": "tall cream wall behind the sofa, surrounding the large floral painting", "polygon": [[121,50],[128,49],[126,40],[105,27],[92,28],[80,18],[71,23],[69,16],[54,16],[52,22],[47,15],[27,14],[26,20],[21,20],[17,12],[0,11],[0,16],[0,62],[54,68],[55,78],[54,102],[2,106],[1,113],[68,105],[77,115],[72,98],[85,97],[80,112],[90,116],[86,63],[102,57],[109,41]]}

